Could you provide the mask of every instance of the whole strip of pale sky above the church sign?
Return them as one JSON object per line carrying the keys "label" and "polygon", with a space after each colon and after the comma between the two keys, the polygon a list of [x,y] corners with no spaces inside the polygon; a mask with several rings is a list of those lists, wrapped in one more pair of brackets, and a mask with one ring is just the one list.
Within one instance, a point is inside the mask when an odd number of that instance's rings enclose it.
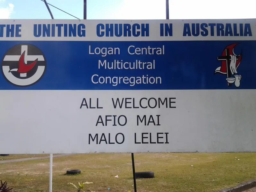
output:
{"label": "whole strip of pale sky above the church sign", "polygon": [[[83,19],[83,0],[47,0]],[[54,19],[76,19],[50,6]],[[256,0],[169,0],[170,19],[254,19]],[[165,19],[165,0],[87,0],[87,19]],[[0,0],[0,19],[51,19],[41,0]]]}

